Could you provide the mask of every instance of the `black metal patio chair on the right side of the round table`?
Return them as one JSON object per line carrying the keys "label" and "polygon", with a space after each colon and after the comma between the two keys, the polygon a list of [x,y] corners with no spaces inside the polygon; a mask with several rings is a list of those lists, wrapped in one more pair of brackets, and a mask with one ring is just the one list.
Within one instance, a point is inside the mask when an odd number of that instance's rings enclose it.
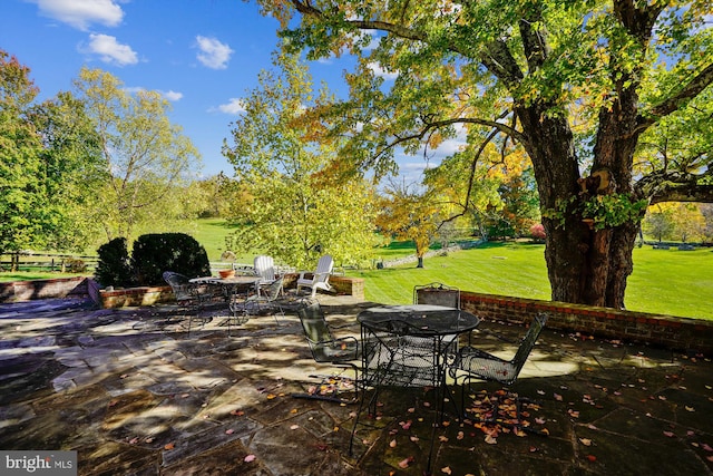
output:
{"label": "black metal patio chair on the right side of the round table", "polygon": [[[458,379],[465,381],[471,380],[490,380],[502,383],[504,386],[510,386],[518,379],[527,358],[535,348],[537,338],[547,323],[547,314],[540,313],[535,315],[529,329],[525,333],[525,337],[520,341],[520,344],[515,352],[515,356],[510,360],[501,359],[492,353],[486,352],[475,347],[461,348],[456,357],[455,362],[449,368],[449,373],[453,381],[458,382]],[[465,391],[461,394],[465,398]],[[509,398],[509,397],[508,397]],[[528,429],[521,425],[520,410],[524,402],[531,402],[527,398],[520,398],[515,395],[515,415],[511,411],[501,411],[500,404],[501,398],[495,399],[496,402],[488,411],[488,417],[482,419],[486,422],[497,422],[501,426],[509,426],[515,428]],[[463,400],[461,399],[461,408],[463,408]],[[507,414],[507,416],[505,415]]]}

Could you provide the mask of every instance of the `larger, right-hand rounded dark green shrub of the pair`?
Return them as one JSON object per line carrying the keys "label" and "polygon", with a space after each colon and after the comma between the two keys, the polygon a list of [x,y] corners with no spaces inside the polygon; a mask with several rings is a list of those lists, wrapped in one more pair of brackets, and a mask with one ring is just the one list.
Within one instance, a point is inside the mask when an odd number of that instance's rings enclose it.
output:
{"label": "larger, right-hand rounded dark green shrub of the pair", "polygon": [[175,271],[188,278],[211,274],[205,249],[185,233],[152,233],[134,242],[134,274],[139,285],[164,284],[164,271]]}

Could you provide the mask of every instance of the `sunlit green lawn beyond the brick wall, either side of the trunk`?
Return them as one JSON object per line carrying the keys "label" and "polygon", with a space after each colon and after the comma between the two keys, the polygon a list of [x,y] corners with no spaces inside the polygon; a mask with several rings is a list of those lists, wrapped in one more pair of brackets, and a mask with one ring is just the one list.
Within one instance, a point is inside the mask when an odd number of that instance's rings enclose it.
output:
{"label": "sunlit green lawn beyond the brick wall, either side of the trunk", "polygon": [[[413,286],[442,282],[463,291],[549,299],[549,282],[540,244],[488,243],[411,264],[352,272],[365,279],[367,299],[383,303],[412,300]],[[634,250],[626,307],[700,319],[713,319],[713,250]]]}

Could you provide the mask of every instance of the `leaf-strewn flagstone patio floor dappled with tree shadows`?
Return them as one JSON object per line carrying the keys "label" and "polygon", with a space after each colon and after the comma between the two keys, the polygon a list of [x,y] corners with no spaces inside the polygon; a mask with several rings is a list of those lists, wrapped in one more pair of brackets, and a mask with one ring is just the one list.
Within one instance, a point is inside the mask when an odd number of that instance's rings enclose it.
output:
{"label": "leaf-strewn flagstone patio floor dappled with tree shadows", "polygon": [[[374,305],[318,297],[354,336],[356,313]],[[294,314],[254,317],[231,338],[216,317],[187,338],[170,311],[0,304],[0,448],[75,449],[81,475],[423,473],[429,391],[383,391],[375,428],[360,426],[350,456],[358,405],[291,397],[334,369],[312,360]],[[476,344],[502,347],[485,336]],[[541,404],[529,418],[549,436],[487,438],[447,420],[433,474],[713,474],[712,386],[710,359],[545,329],[511,389]]]}

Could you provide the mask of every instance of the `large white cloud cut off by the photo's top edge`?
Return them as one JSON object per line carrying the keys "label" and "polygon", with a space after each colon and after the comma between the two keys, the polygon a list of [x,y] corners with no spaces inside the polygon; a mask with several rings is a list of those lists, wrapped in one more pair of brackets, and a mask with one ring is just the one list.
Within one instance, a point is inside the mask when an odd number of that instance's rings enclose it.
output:
{"label": "large white cloud cut off by the photo's top edge", "polygon": [[30,0],[37,3],[40,14],[79,30],[86,31],[91,23],[116,27],[124,11],[114,0]]}

